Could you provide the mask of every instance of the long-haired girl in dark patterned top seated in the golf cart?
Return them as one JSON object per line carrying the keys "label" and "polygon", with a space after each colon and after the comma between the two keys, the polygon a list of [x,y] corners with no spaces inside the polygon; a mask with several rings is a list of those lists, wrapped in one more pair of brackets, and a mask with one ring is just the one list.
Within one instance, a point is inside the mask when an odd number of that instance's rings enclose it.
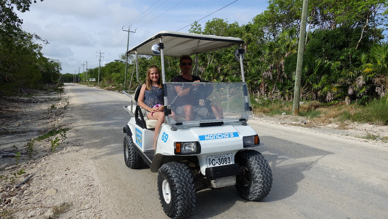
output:
{"label": "long-haired girl in dark patterned top seated in the golf cart", "polygon": [[146,84],[142,85],[139,93],[138,104],[147,111],[147,118],[157,119],[154,134],[154,150],[156,146],[156,137],[162,123],[164,122],[164,100],[161,75],[157,66],[147,68]]}

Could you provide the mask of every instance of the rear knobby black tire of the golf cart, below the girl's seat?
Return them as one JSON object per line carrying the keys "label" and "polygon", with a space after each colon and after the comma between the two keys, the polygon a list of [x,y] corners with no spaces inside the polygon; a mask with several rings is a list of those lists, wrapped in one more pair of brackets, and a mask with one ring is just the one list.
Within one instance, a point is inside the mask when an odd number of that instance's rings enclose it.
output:
{"label": "rear knobby black tire of the golf cart, below the girl's seat", "polygon": [[129,135],[124,137],[124,161],[125,165],[132,169],[140,168],[143,165],[143,158],[136,151],[132,137]]}

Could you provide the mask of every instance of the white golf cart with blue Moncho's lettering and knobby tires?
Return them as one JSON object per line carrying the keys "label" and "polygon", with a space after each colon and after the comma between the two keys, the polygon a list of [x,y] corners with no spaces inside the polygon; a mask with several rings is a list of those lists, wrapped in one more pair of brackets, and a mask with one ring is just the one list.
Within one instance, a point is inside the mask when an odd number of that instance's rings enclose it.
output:
{"label": "white golf cart with blue Moncho's lettering and knobby tires", "polygon": [[[138,55],[160,55],[164,90],[164,120],[156,149],[153,150],[156,120],[147,119],[137,105],[140,89],[130,104],[123,131],[124,160],[129,168],[140,168],[143,161],[158,172],[158,191],[162,208],[171,218],[187,217],[195,209],[196,192],[206,188],[235,185],[238,193],[250,201],[260,201],[271,190],[272,171],[263,155],[254,150],[260,145],[258,134],[247,124],[252,111],[244,79],[242,39],[214,35],[163,31],[127,51]],[[236,47],[242,82],[174,83],[165,81],[164,56],[196,55],[226,47]],[[195,69],[195,73],[197,70]],[[145,73],[145,72],[144,72]],[[178,72],[177,72],[178,75]],[[190,120],[174,113],[179,101],[176,87],[196,85],[188,98],[199,99],[199,107],[208,113]],[[199,85],[199,86],[198,86]]]}

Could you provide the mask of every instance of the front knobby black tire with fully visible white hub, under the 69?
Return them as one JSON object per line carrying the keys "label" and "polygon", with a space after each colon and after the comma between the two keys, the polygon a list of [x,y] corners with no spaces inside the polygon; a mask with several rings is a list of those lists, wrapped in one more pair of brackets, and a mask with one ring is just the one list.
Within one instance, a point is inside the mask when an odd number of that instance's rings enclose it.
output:
{"label": "front knobby black tire with fully visible white hub, under the 69", "polygon": [[195,209],[193,174],[183,163],[162,165],[158,173],[158,192],[163,211],[170,218],[185,218]]}

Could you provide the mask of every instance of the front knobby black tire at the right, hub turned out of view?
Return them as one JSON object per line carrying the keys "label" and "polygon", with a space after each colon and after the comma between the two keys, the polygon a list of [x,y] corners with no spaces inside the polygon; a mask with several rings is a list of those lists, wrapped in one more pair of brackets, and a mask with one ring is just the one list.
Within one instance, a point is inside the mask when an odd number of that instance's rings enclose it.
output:
{"label": "front knobby black tire at the right, hub turned out of view", "polygon": [[236,177],[236,189],[239,194],[250,201],[260,201],[270,192],[272,170],[264,156],[257,151],[238,152],[235,162],[240,164],[242,173]]}

